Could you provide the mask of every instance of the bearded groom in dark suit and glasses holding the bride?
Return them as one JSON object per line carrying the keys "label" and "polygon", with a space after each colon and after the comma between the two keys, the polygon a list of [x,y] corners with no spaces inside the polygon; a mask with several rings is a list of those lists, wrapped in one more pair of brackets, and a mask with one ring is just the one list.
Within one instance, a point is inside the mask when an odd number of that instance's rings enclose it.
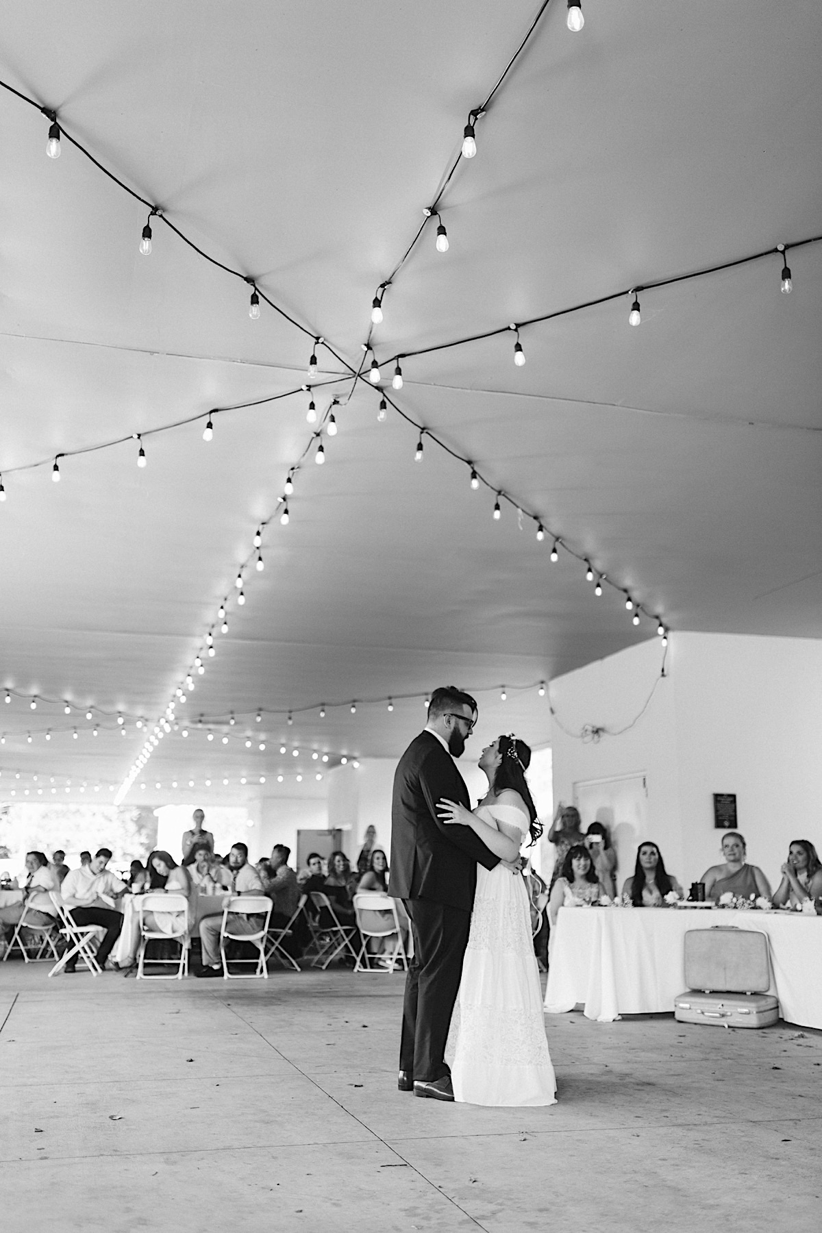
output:
{"label": "bearded groom in dark suit and glasses holding the bride", "polygon": [[404,901],[414,938],[398,1088],[434,1100],[454,1100],[445,1042],[468,943],[477,863],[486,869],[499,863],[470,827],[446,826],[437,817],[441,797],[471,808],[454,758],[465,750],[476,721],[471,694],[454,687],[435,689],[428,724],[394,773],[391,894]]}

